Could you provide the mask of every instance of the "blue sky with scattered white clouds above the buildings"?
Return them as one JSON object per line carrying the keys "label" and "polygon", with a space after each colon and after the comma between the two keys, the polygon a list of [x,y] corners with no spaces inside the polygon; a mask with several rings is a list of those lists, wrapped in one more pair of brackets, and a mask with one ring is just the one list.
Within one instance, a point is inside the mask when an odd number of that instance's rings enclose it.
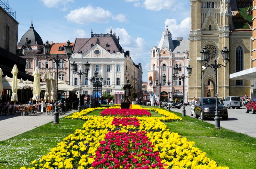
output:
{"label": "blue sky with scattered white clouds above the buildings", "polygon": [[189,0],[5,0],[17,12],[18,41],[31,25],[54,43],[75,41],[109,33],[120,38],[120,45],[135,64],[141,63],[143,81],[150,70],[150,52],[158,46],[166,25],[173,40],[187,39],[190,33]]}

